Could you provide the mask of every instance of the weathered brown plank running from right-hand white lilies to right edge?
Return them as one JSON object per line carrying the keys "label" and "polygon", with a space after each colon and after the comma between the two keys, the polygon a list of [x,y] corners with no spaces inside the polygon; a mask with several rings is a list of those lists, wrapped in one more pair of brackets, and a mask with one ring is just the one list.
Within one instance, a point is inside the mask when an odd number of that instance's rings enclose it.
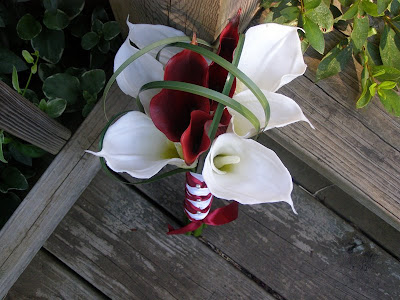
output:
{"label": "weathered brown plank running from right-hand white lilies to right edge", "polygon": [[400,230],[400,152],[306,77],[281,92],[316,127],[293,124],[268,135]]}

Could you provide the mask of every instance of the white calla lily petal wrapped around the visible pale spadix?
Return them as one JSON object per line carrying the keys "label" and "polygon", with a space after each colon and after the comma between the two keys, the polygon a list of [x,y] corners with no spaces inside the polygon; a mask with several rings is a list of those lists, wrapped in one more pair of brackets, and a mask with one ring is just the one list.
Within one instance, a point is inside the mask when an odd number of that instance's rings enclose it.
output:
{"label": "white calla lily petal wrapped around the visible pale spadix", "polygon": [[[240,162],[225,166],[226,173],[215,172],[214,160],[223,155],[239,156]],[[285,201],[293,208],[292,178],[278,156],[256,141],[233,133],[222,134],[215,140],[205,160],[203,177],[216,197],[241,204]]]}

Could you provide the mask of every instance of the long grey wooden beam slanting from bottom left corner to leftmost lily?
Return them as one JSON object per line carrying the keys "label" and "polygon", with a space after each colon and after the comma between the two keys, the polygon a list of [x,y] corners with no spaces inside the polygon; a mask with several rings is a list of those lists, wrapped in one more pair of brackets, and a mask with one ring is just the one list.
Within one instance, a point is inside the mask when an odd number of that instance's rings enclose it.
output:
{"label": "long grey wooden beam slanting from bottom left corner to leftmost lily", "polygon": [[[107,103],[112,103],[107,109],[112,115],[132,101],[114,87]],[[0,231],[0,298],[100,169],[98,159],[84,151],[97,149],[106,123],[99,102]]]}

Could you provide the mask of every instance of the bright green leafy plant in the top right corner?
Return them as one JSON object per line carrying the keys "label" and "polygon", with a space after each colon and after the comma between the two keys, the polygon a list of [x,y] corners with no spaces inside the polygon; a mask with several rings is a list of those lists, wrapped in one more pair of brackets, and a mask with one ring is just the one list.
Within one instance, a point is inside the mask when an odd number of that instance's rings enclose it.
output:
{"label": "bright green leafy plant in the top right corner", "polygon": [[[377,95],[386,110],[400,116],[400,1],[399,0],[272,0],[266,22],[304,29],[304,51],[309,46],[324,54],[316,73],[322,80],[341,72],[354,57],[362,66],[356,107]],[[326,53],[324,34],[332,30],[344,38]]]}

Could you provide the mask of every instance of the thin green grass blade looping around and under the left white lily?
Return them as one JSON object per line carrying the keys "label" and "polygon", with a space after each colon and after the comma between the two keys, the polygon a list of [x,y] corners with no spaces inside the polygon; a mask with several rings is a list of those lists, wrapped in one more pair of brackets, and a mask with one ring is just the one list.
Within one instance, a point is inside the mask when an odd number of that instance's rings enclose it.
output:
{"label": "thin green grass blade looping around and under the left white lily", "polygon": [[[130,111],[131,111],[131,110],[124,111],[124,112],[121,112],[121,113],[119,113],[119,114],[116,114],[115,116],[113,116],[113,117],[111,118],[110,121],[108,121],[107,125],[104,127],[104,129],[103,129],[103,131],[102,131],[102,133],[101,133],[101,135],[100,135],[99,151],[101,151],[101,149],[103,149],[104,137],[105,137],[105,135],[106,135],[106,132],[107,132],[108,128],[109,128],[109,127],[114,123],[114,121],[116,121],[119,117],[125,115],[126,113],[128,113],[128,112],[130,112]],[[162,173],[162,174],[160,174],[160,175],[153,176],[153,177],[151,177],[151,178],[149,178],[149,179],[143,179],[143,180],[138,180],[138,181],[134,181],[134,182],[129,182],[129,181],[125,181],[125,180],[120,179],[120,177],[119,177],[118,175],[116,175],[112,170],[110,170],[110,168],[109,168],[109,167],[107,166],[107,164],[106,164],[106,160],[104,159],[104,157],[100,157],[100,164],[101,164],[101,167],[103,168],[103,170],[106,172],[106,174],[107,174],[108,176],[110,176],[112,179],[117,180],[117,181],[119,181],[119,182],[122,182],[122,183],[124,183],[124,184],[129,184],[129,185],[150,183],[150,182],[154,182],[154,181],[157,181],[157,180],[160,180],[160,179],[163,179],[163,178],[165,178],[165,177],[169,177],[169,176],[172,176],[172,175],[175,175],[175,174],[178,174],[178,173],[193,171],[192,169],[179,169],[179,168],[178,168],[178,169],[174,169],[174,170],[171,170],[171,171]]]}

